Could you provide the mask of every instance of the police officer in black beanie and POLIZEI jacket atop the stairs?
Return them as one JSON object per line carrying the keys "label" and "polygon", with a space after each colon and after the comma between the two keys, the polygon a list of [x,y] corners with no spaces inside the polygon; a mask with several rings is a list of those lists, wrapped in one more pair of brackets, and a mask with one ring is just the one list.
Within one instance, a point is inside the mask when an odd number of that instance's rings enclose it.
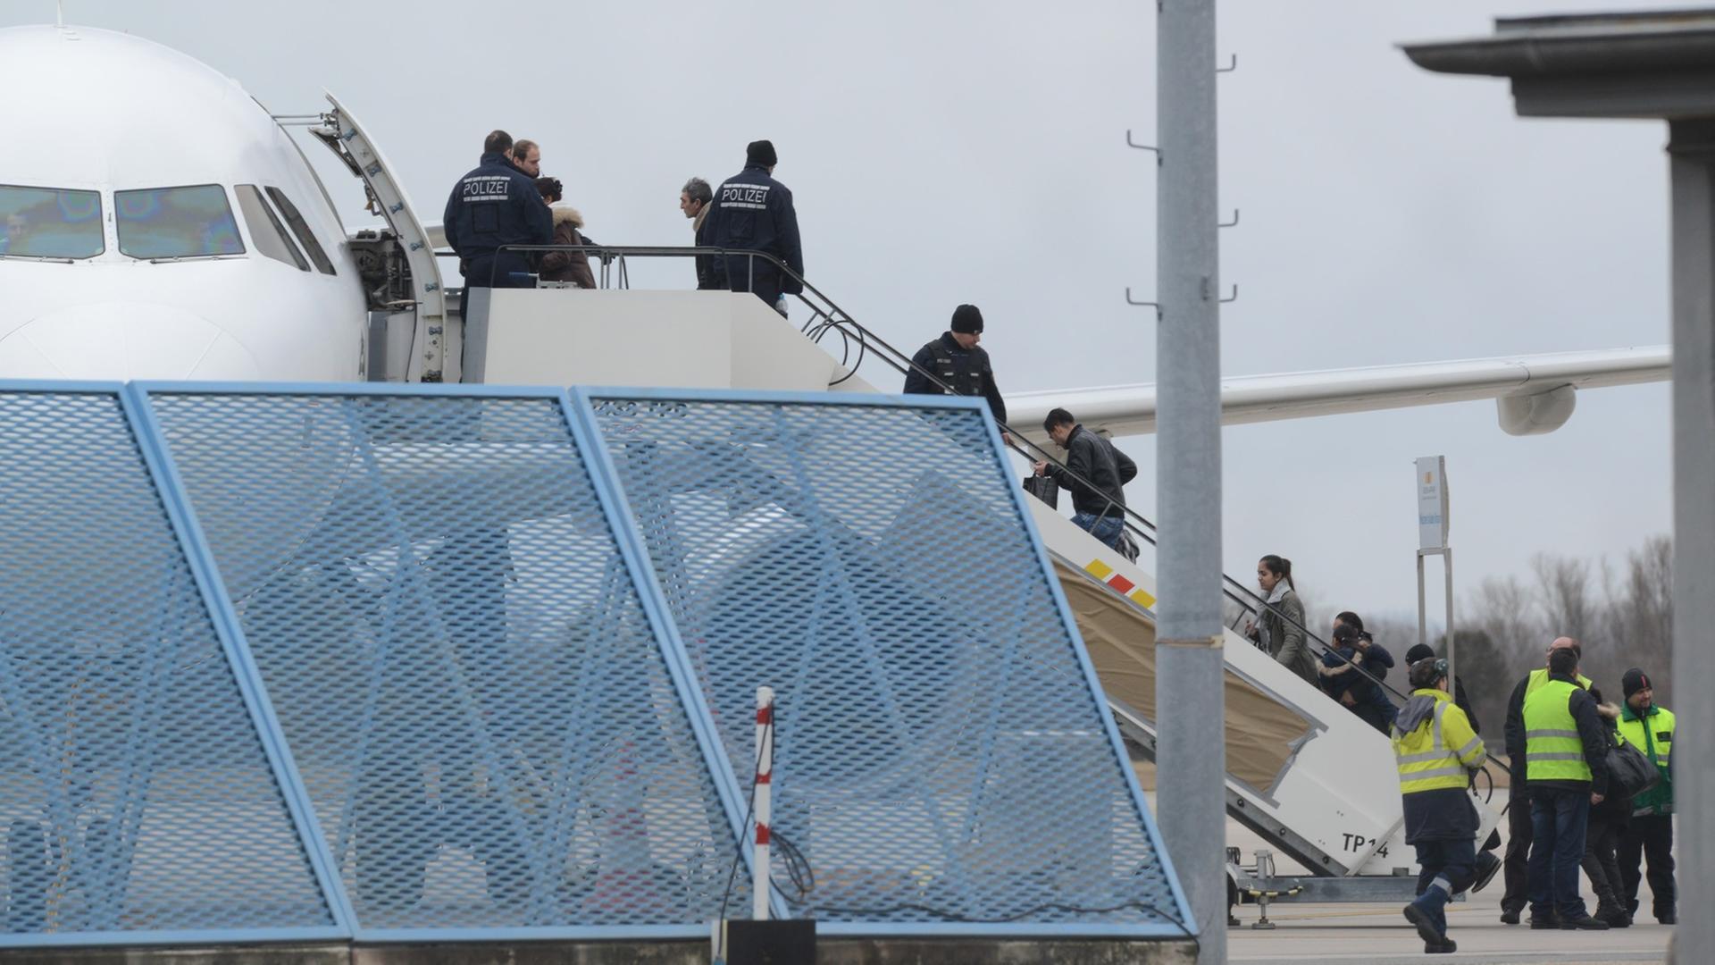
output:
{"label": "police officer in black beanie and POLIZEI jacket atop the stairs", "polygon": [[[744,170],[715,191],[715,209],[708,215],[713,227],[708,237],[717,247],[767,251],[803,278],[804,247],[797,240],[792,192],[770,177],[777,161],[773,144],[768,141],[751,141],[744,148]],[[797,278],[784,275],[770,261],[729,254],[725,270],[727,288],[753,292],[768,307],[779,307],[782,292],[796,295],[804,290]]]}

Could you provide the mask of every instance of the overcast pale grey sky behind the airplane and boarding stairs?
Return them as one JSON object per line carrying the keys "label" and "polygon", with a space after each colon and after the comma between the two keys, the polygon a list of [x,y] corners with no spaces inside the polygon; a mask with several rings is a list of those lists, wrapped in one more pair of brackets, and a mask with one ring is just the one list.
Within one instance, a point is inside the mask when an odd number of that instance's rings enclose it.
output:
{"label": "overcast pale grey sky behind the airplane and boarding stairs", "polygon": [[[1221,203],[1243,218],[1221,235],[1242,290],[1223,373],[1667,342],[1664,127],[1518,120],[1504,82],[1432,76],[1394,48],[1489,33],[1494,15],[1658,5],[1225,0],[1240,69],[1219,81]],[[1151,290],[1156,259],[1154,165],[1123,144],[1154,130],[1147,0],[65,7],[208,62],[276,113],[334,91],[425,220],[504,127],[542,143],[597,240],[689,244],[684,179],[717,182],[770,137],[809,280],[890,342],[916,347],[976,302],[1003,390],[1154,381],[1154,318],[1122,297]],[[51,19],[51,0],[0,3],[0,26]],[[163,136],[196,137],[194,122]],[[357,182],[312,156],[364,223]],[[645,280],[689,287],[689,266],[671,271]],[[1120,445],[1152,515],[1152,438]],[[1432,453],[1461,591],[1526,574],[1540,549],[1621,556],[1669,527],[1665,385],[1581,393],[1535,438],[1470,402],[1226,429],[1228,570],[1281,553],[1314,610],[1413,613],[1411,460]]]}

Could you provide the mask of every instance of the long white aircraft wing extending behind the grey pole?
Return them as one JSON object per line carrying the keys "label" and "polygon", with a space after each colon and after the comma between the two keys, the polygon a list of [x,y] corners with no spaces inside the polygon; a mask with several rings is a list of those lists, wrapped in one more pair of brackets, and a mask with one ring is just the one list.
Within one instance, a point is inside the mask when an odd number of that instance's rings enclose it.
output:
{"label": "long white aircraft wing extending behind the grey pole", "polygon": [[[1221,379],[1221,424],[1269,422],[1494,398],[1501,428],[1514,436],[1552,433],[1573,414],[1576,390],[1667,381],[1667,345],[1506,355],[1451,362],[1372,366]],[[1043,417],[1067,409],[1086,428],[1111,436],[1156,431],[1156,386],[1113,385],[1007,395],[1014,428],[1043,443]]]}

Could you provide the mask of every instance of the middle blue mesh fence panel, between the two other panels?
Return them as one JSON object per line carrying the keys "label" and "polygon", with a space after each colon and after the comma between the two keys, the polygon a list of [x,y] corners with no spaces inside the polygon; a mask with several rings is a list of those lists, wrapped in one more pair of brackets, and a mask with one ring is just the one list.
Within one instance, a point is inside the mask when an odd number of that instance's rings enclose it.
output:
{"label": "middle blue mesh fence panel, between the two other panels", "polygon": [[360,934],[703,934],[732,816],[556,397],[151,409]]}

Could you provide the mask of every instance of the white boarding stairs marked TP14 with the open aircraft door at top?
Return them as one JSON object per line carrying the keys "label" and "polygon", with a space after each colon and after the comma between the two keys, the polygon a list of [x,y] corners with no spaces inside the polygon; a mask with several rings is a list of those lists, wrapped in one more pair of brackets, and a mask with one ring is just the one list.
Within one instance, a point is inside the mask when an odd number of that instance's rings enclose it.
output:
{"label": "white boarding stairs marked TP14 with the open aircraft door at top", "polygon": [[[909,354],[808,282],[797,300],[809,319],[799,326],[749,294],[628,287],[633,264],[669,259],[689,276],[696,254],[770,261],[796,276],[765,252],[587,246],[576,251],[599,261],[600,288],[473,288],[470,318],[460,318],[434,258],[448,256],[434,251],[444,240],[437,227],[417,222],[379,149],[338,103],[326,117],[322,139],[364,180],[372,211],[388,222],[382,232],[365,232],[367,242],[353,239],[376,247],[374,261],[386,268],[365,350],[370,381],[883,391],[911,367]],[[871,357],[885,366],[880,388],[859,376]],[[1024,460],[1055,458],[1024,433],[1010,436],[1020,469]],[[1046,503],[1029,505],[1120,731],[1152,757],[1154,527],[1127,510],[1127,531],[1144,548],[1134,563]],[[1271,900],[1408,900],[1415,862],[1387,738],[1235,632],[1266,604],[1230,577],[1223,584],[1226,810],[1269,845],[1249,867],[1228,848],[1230,895],[1262,905],[1261,924]],[[1319,654],[1327,649],[1305,634]],[[1487,836],[1499,816],[1482,797],[1477,805]],[[1276,874],[1274,850],[1303,874]]]}

